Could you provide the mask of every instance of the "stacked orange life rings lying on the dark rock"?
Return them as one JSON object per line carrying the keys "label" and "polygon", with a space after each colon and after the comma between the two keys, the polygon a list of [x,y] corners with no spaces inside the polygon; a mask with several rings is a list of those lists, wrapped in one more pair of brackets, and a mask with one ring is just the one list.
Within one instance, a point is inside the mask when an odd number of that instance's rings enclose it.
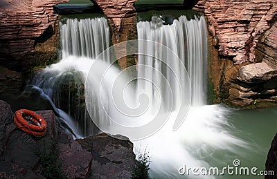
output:
{"label": "stacked orange life rings lying on the dark rock", "polygon": [[46,121],[41,115],[35,113],[34,111],[20,109],[15,112],[14,121],[19,129],[30,135],[42,137],[46,133]]}

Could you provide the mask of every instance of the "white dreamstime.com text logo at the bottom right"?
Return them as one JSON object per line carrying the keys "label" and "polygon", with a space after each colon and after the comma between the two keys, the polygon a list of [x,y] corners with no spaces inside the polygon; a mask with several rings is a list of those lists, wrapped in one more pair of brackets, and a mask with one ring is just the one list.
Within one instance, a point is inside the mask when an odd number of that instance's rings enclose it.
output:
{"label": "white dreamstime.com text logo at the bottom right", "polygon": [[274,176],[274,171],[260,171],[257,167],[241,167],[238,159],[233,160],[233,165],[227,167],[183,167],[178,169],[178,173],[182,176]]}

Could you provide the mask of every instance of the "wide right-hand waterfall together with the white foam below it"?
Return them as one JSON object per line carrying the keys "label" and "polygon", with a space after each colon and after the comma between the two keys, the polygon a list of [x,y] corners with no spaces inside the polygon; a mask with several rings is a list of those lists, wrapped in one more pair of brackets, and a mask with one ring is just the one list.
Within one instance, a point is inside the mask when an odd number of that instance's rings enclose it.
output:
{"label": "wide right-hand waterfall together with the white foam below it", "polygon": [[[231,135],[233,128],[227,117],[229,109],[206,105],[208,52],[204,17],[195,16],[188,20],[181,16],[171,25],[163,25],[162,19],[154,16],[150,22],[137,23],[137,29],[138,38],[149,41],[141,44],[139,41],[138,78],[146,80],[138,81],[137,92],[148,94],[150,106],[154,106],[152,110],[156,110],[155,106],[160,103],[165,113],[171,115],[157,133],[132,141],[134,153],[139,156],[148,152],[150,175],[154,178],[215,178],[201,174],[181,176],[178,173],[184,164],[199,169],[215,163],[224,166],[224,160],[213,157],[217,151],[235,153],[235,147],[238,150],[238,147],[247,146],[246,142]],[[169,50],[161,49],[151,41]],[[186,70],[182,70],[182,65]],[[157,71],[161,74],[157,75]],[[188,88],[191,88],[190,99],[184,96]],[[190,109],[184,123],[177,131],[172,131],[178,111],[187,110],[180,107],[182,101],[185,106],[190,104]]]}

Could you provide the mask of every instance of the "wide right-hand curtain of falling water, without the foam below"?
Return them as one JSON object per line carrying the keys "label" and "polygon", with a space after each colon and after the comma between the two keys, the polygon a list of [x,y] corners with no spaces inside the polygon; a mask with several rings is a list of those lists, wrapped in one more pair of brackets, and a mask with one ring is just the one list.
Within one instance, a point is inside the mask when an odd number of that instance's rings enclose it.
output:
{"label": "wide right-hand curtain of falling water, without the foam below", "polygon": [[[148,44],[147,48],[139,45],[139,53],[149,54],[149,51],[157,53],[159,59],[149,57],[145,55],[139,55],[139,64],[152,66],[153,68],[145,70],[139,68],[139,78],[151,78],[150,81],[153,84],[161,84],[161,78],[156,77],[155,70],[160,71],[165,75],[166,79],[170,82],[172,94],[174,95],[174,106],[177,106],[179,100],[184,98],[180,96],[180,91],[177,88],[179,79],[180,84],[184,84],[184,72],[179,68],[181,64],[186,66],[188,71],[188,77],[191,84],[191,104],[193,106],[203,106],[206,104],[206,86],[207,86],[207,39],[206,39],[206,21],[204,17],[196,17],[194,20],[188,21],[186,16],[179,17],[179,20],[175,19],[172,25],[163,26],[162,19],[159,17],[152,17],[152,21],[141,21],[137,24],[138,38],[149,41],[157,41],[164,46],[170,48],[175,54],[179,56],[179,60],[167,57],[166,52],[161,52],[161,49],[157,49],[154,45]],[[172,64],[175,68],[175,73],[170,73],[170,70],[165,64]],[[175,77],[177,75],[177,77]],[[148,91],[148,94],[152,94],[153,86],[150,83],[139,82],[139,91]],[[163,91],[163,105],[169,101],[168,90]],[[186,93],[186,91],[183,91]],[[154,95],[152,95],[154,97]],[[152,99],[152,101],[155,101]]]}

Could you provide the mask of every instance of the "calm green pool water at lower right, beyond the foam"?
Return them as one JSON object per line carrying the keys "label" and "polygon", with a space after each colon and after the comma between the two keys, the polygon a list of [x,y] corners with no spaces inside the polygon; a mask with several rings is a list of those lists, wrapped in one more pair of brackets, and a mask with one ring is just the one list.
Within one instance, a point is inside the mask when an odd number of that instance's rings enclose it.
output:
{"label": "calm green pool water at lower right, beyond the foam", "polygon": [[[271,147],[271,141],[277,132],[277,108],[233,110],[230,122],[235,127],[233,133],[249,143],[249,149],[242,151],[237,156],[242,167],[257,167],[265,169],[267,153]],[[229,156],[230,157],[230,156]],[[232,161],[229,161],[232,164]],[[249,178],[249,176],[229,178]],[[251,176],[251,178],[264,178],[264,176]]]}

